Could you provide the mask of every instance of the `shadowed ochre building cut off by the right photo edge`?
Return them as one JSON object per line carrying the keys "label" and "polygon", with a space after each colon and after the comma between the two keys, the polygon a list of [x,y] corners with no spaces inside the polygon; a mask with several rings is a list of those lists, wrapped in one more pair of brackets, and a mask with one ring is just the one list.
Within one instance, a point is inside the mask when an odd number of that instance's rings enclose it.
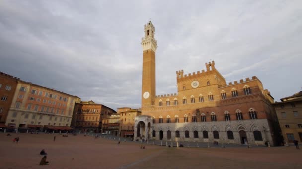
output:
{"label": "shadowed ochre building cut off by the right photo edge", "polygon": [[302,91],[274,103],[284,141],[302,142]]}

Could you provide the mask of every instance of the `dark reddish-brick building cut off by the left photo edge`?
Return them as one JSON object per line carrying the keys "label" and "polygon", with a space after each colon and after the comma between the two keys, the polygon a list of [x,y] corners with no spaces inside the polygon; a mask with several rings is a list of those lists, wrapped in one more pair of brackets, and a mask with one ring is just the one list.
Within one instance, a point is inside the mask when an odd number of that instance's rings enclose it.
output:
{"label": "dark reddish-brick building cut off by the left photo edge", "polygon": [[8,115],[18,78],[0,72],[0,128],[6,128],[5,122]]}

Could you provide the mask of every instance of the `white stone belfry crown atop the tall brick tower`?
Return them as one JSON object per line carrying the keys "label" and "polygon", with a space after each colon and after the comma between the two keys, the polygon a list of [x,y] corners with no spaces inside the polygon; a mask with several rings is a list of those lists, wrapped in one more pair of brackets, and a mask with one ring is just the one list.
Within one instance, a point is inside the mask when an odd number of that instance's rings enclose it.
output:
{"label": "white stone belfry crown atop the tall brick tower", "polygon": [[144,31],[145,31],[145,37],[142,38],[142,42],[141,42],[143,51],[151,49],[154,52],[156,52],[157,41],[154,38],[155,27],[151,21],[149,21],[148,24],[144,26]]}

